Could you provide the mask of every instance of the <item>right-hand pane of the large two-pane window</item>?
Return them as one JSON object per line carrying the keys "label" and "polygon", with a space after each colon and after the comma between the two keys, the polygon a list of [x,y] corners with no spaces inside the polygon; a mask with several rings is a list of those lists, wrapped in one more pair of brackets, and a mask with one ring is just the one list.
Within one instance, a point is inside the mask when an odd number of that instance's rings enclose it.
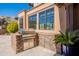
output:
{"label": "right-hand pane of the large two-pane window", "polygon": [[46,19],[47,19],[47,29],[52,30],[53,23],[54,23],[54,9],[53,8],[46,10]]}

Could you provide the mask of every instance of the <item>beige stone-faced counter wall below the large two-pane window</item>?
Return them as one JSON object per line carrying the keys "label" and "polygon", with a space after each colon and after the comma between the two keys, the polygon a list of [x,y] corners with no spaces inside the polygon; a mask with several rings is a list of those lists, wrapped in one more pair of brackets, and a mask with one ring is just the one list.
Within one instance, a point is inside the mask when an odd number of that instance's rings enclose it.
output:
{"label": "beige stone-faced counter wall below the large two-pane window", "polygon": [[50,49],[56,53],[60,53],[60,45],[56,45],[53,41],[55,38],[55,34],[39,34],[39,45]]}

